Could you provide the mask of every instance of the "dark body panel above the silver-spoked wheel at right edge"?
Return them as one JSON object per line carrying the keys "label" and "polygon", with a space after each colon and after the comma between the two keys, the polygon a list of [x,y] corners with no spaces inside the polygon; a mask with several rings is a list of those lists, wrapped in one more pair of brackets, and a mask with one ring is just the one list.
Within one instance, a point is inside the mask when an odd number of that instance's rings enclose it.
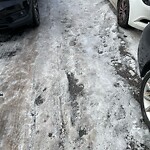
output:
{"label": "dark body panel above the silver-spoked wheel at right edge", "polygon": [[150,24],[144,29],[138,48],[140,74],[143,77],[150,69]]}

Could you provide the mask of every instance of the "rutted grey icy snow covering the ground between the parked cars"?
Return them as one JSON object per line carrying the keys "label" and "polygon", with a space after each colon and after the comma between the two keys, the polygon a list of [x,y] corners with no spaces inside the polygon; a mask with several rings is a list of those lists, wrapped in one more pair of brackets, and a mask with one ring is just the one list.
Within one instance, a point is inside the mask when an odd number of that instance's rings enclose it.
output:
{"label": "rutted grey icy snow covering the ground between the parked cars", "polygon": [[118,28],[109,5],[40,1],[41,26],[1,44],[0,149],[150,149],[140,32]]}

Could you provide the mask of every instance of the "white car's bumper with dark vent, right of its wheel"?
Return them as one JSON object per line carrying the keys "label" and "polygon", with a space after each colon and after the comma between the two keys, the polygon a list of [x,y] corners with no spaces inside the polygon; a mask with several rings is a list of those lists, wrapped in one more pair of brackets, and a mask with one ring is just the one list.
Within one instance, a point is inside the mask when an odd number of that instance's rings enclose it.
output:
{"label": "white car's bumper with dark vent, right of its wheel", "polygon": [[150,6],[142,0],[130,0],[130,13],[128,24],[139,30],[143,30],[150,22]]}

